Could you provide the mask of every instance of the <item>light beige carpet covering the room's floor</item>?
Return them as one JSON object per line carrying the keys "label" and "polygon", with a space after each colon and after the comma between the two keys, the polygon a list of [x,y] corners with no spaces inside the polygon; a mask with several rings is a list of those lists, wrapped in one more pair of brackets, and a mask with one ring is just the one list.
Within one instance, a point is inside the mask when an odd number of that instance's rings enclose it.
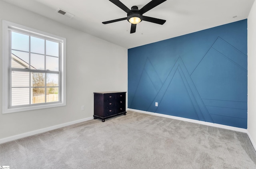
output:
{"label": "light beige carpet covering the room's floor", "polygon": [[255,169],[245,133],[127,112],[0,144],[10,169]]}

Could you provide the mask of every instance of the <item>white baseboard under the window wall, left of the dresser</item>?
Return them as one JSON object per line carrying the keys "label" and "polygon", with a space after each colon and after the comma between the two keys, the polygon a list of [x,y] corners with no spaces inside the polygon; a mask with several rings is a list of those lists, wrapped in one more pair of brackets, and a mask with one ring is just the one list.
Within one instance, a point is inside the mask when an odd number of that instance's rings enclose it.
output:
{"label": "white baseboard under the window wall, left of the dresser", "polygon": [[58,128],[70,126],[72,124],[86,122],[86,121],[92,120],[92,119],[93,119],[93,117],[84,118],[84,119],[75,120],[75,121],[72,121],[72,122],[58,124],[56,126],[51,126],[51,127],[48,127],[48,128],[42,128],[42,129],[39,129],[39,130],[34,130],[34,131],[31,131],[31,132],[26,132],[26,133],[18,134],[18,135],[15,135],[15,136],[10,136],[10,137],[7,137],[7,138],[2,138],[2,139],[0,139],[0,144],[1,143],[6,143],[8,141],[17,140],[17,139],[20,139],[20,138],[25,138],[25,137],[32,136],[32,135],[35,135],[35,134],[40,134],[40,133],[48,132],[50,130],[55,130],[55,129],[58,129]]}

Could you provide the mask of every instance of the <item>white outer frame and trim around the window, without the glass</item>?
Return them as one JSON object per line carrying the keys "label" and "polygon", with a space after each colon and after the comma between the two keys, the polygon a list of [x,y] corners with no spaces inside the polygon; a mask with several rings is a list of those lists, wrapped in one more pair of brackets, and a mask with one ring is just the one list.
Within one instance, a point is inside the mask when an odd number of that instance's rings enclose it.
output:
{"label": "white outer frame and trim around the window, without the glass", "polygon": [[[42,108],[53,108],[59,106],[66,106],[66,38],[60,37],[57,35],[52,35],[50,33],[46,33],[44,31],[36,30],[33,28],[28,28],[26,26],[22,26],[19,24],[15,24],[6,20],[2,20],[2,114],[5,113],[13,113],[13,112],[22,112],[28,110],[37,110]],[[29,105],[21,105],[21,106],[10,106],[10,29],[16,29],[19,31],[27,32],[31,35],[37,35],[41,37],[49,37],[50,39],[56,39],[56,41],[60,41],[61,51],[60,51],[60,80],[59,80],[59,102],[48,102],[42,104],[29,104]]]}

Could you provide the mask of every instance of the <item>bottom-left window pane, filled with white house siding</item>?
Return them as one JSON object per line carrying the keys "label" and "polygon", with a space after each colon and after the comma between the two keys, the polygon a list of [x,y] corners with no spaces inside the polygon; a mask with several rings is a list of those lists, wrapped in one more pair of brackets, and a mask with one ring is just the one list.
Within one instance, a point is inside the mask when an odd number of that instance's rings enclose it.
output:
{"label": "bottom-left window pane, filled with white house siding", "polygon": [[12,88],[12,106],[29,104],[29,88]]}

